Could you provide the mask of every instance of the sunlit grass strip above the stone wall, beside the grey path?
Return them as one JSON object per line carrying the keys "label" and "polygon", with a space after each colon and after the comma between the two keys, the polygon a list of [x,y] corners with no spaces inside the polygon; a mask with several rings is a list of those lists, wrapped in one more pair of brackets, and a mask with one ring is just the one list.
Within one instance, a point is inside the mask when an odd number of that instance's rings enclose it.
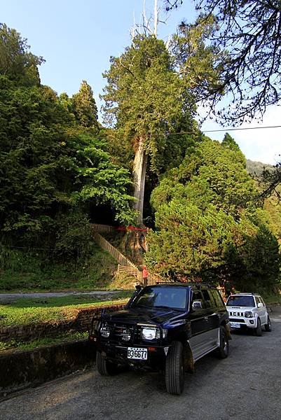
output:
{"label": "sunlit grass strip above the stone wall, beside the grey path", "polygon": [[116,295],[70,295],[48,299],[20,298],[0,304],[0,328],[30,323],[57,322],[70,320],[76,309],[83,307],[104,307],[109,304],[128,302],[132,290],[124,290]]}

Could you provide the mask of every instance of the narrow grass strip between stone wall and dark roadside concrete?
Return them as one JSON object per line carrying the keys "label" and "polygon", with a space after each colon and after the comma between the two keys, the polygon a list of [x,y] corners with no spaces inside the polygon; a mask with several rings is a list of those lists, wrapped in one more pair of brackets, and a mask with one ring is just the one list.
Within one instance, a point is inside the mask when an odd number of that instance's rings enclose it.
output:
{"label": "narrow grass strip between stone wall and dark roadside concrete", "polygon": [[42,346],[50,346],[52,344],[61,344],[65,342],[71,342],[79,339],[87,339],[88,332],[64,332],[57,334],[55,337],[43,337],[35,339],[32,342],[16,342],[11,340],[10,342],[0,341],[0,352],[1,351],[29,351],[35,350]]}

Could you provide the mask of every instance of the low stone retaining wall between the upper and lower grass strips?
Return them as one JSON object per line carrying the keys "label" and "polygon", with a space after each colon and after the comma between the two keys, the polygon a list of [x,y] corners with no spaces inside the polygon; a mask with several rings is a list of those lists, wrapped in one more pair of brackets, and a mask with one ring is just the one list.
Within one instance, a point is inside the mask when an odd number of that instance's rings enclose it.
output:
{"label": "low stone retaining wall between the upper and lower grass strips", "polygon": [[0,328],[0,341],[9,342],[12,339],[18,342],[29,342],[40,337],[52,337],[66,331],[88,331],[93,316],[100,316],[106,309],[114,311],[124,307],[124,304],[115,304],[109,307],[89,307],[71,309],[74,315],[70,320],[57,322],[44,322],[39,324],[16,325],[13,327]]}

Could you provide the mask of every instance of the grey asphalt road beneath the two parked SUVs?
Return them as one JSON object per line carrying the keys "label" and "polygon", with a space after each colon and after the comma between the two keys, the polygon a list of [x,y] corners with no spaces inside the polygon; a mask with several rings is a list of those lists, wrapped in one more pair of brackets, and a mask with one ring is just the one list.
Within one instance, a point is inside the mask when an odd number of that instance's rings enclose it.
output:
{"label": "grey asphalt road beneath the two parked SUVs", "polygon": [[279,420],[281,314],[262,337],[233,335],[228,358],[212,355],[186,375],[184,393],[165,392],[160,374],[100,377],[95,367],[0,403],[1,420]]}

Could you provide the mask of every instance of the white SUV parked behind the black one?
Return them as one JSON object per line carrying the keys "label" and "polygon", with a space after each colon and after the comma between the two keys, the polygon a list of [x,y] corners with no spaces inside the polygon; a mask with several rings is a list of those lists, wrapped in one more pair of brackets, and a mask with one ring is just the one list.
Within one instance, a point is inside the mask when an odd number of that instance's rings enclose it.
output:
{"label": "white SUV parked behind the black one", "polygon": [[256,293],[230,295],[226,302],[226,309],[232,330],[251,328],[259,336],[261,336],[262,327],[266,331],[271,331],[268,310],[261,295]]}

